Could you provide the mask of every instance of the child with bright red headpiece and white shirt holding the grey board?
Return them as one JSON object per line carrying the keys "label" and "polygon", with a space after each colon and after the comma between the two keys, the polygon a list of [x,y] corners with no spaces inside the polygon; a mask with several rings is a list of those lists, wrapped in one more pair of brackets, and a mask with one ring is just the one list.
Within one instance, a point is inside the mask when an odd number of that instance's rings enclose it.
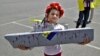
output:
{"label": "child with bright red headpiece and white shirt holding the grey board", "polygon": [[[57,2],[50,3],[45,11],[45,17],[40,24],[40,27],[36,27],[34,31],[48,31],[48,30],[64,30],[64,26],[57,22],[64,14],[64,9]],[[86,41],[84,43],[87,43]],[[19,45],[18,48],[22,50],[29,49],[23,45]],[[44,56],[61,56],[62,49],[60,45],[45,46]]]}

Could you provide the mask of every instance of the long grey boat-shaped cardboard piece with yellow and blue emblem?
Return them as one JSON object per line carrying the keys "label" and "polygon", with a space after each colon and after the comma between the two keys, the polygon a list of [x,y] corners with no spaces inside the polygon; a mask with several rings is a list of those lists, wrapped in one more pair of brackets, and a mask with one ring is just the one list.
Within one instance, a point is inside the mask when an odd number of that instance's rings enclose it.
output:
{"label": "long grey boat-shaped cardboard piece with yellow and blue emblem", "polygon": [[80,43],[83,42],[83,39],[86,37],[92,41],[94,39],[94,30],[91,28],[73,28],[66,30],[23,32],[5,35],[5,39],[7,39],[14,48],[19,44],[27,47],[36,47]]}

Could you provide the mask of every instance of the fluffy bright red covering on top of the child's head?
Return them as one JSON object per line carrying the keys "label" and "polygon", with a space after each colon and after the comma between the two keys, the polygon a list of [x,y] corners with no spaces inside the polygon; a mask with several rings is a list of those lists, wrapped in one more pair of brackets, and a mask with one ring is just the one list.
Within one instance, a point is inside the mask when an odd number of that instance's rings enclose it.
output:
{"label": "fluffy bright red covering on top of the child's head", "polygon": [[64,9],[61,7],[61,5],[59,3],[57,3],[57,2],[50,3],[49,6],[47,6],[47,8],[46,8],[46,13],[49,14],[52,9],[58,10],[60,12],[60,17],[63,16]]}

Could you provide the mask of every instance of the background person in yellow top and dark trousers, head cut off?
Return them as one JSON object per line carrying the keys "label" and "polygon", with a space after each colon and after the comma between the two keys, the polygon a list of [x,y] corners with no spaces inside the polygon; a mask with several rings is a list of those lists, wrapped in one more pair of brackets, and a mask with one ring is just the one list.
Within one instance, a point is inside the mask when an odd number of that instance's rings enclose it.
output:
{"label": "background person in yellow top and dark trousers, head cut off", "polygon": [[90,10],[91,10],[90,21],[93,18],[94,1],[93,0],[78,0],[78,6],[79,6],[79,18],[76,23],[76,28],[78,28],[81,25],[81,23],[82,23],[81,27],[86,27]]}

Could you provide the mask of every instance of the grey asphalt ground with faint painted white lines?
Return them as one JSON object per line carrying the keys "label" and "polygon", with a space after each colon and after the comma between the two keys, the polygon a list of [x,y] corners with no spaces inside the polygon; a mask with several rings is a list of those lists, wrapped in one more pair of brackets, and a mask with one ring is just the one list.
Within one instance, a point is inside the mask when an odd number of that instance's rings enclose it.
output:
{"label": "grey asphalt ground with faint painted white lines", "polygon": [[[65,14],[59,23],[75,28],[78,18],[77,0],[0,0],[0,56],[43,56],[43,47],[31,50],[14,49],[4,38],[5,34],[32,31],[30,17],[43,19],[46,6],[59,2]],[[94,18],[87,27],[94,29],[94,41],[87,45],[64,44],[62,56],[100,56],[100,9],[96,8]]]}

